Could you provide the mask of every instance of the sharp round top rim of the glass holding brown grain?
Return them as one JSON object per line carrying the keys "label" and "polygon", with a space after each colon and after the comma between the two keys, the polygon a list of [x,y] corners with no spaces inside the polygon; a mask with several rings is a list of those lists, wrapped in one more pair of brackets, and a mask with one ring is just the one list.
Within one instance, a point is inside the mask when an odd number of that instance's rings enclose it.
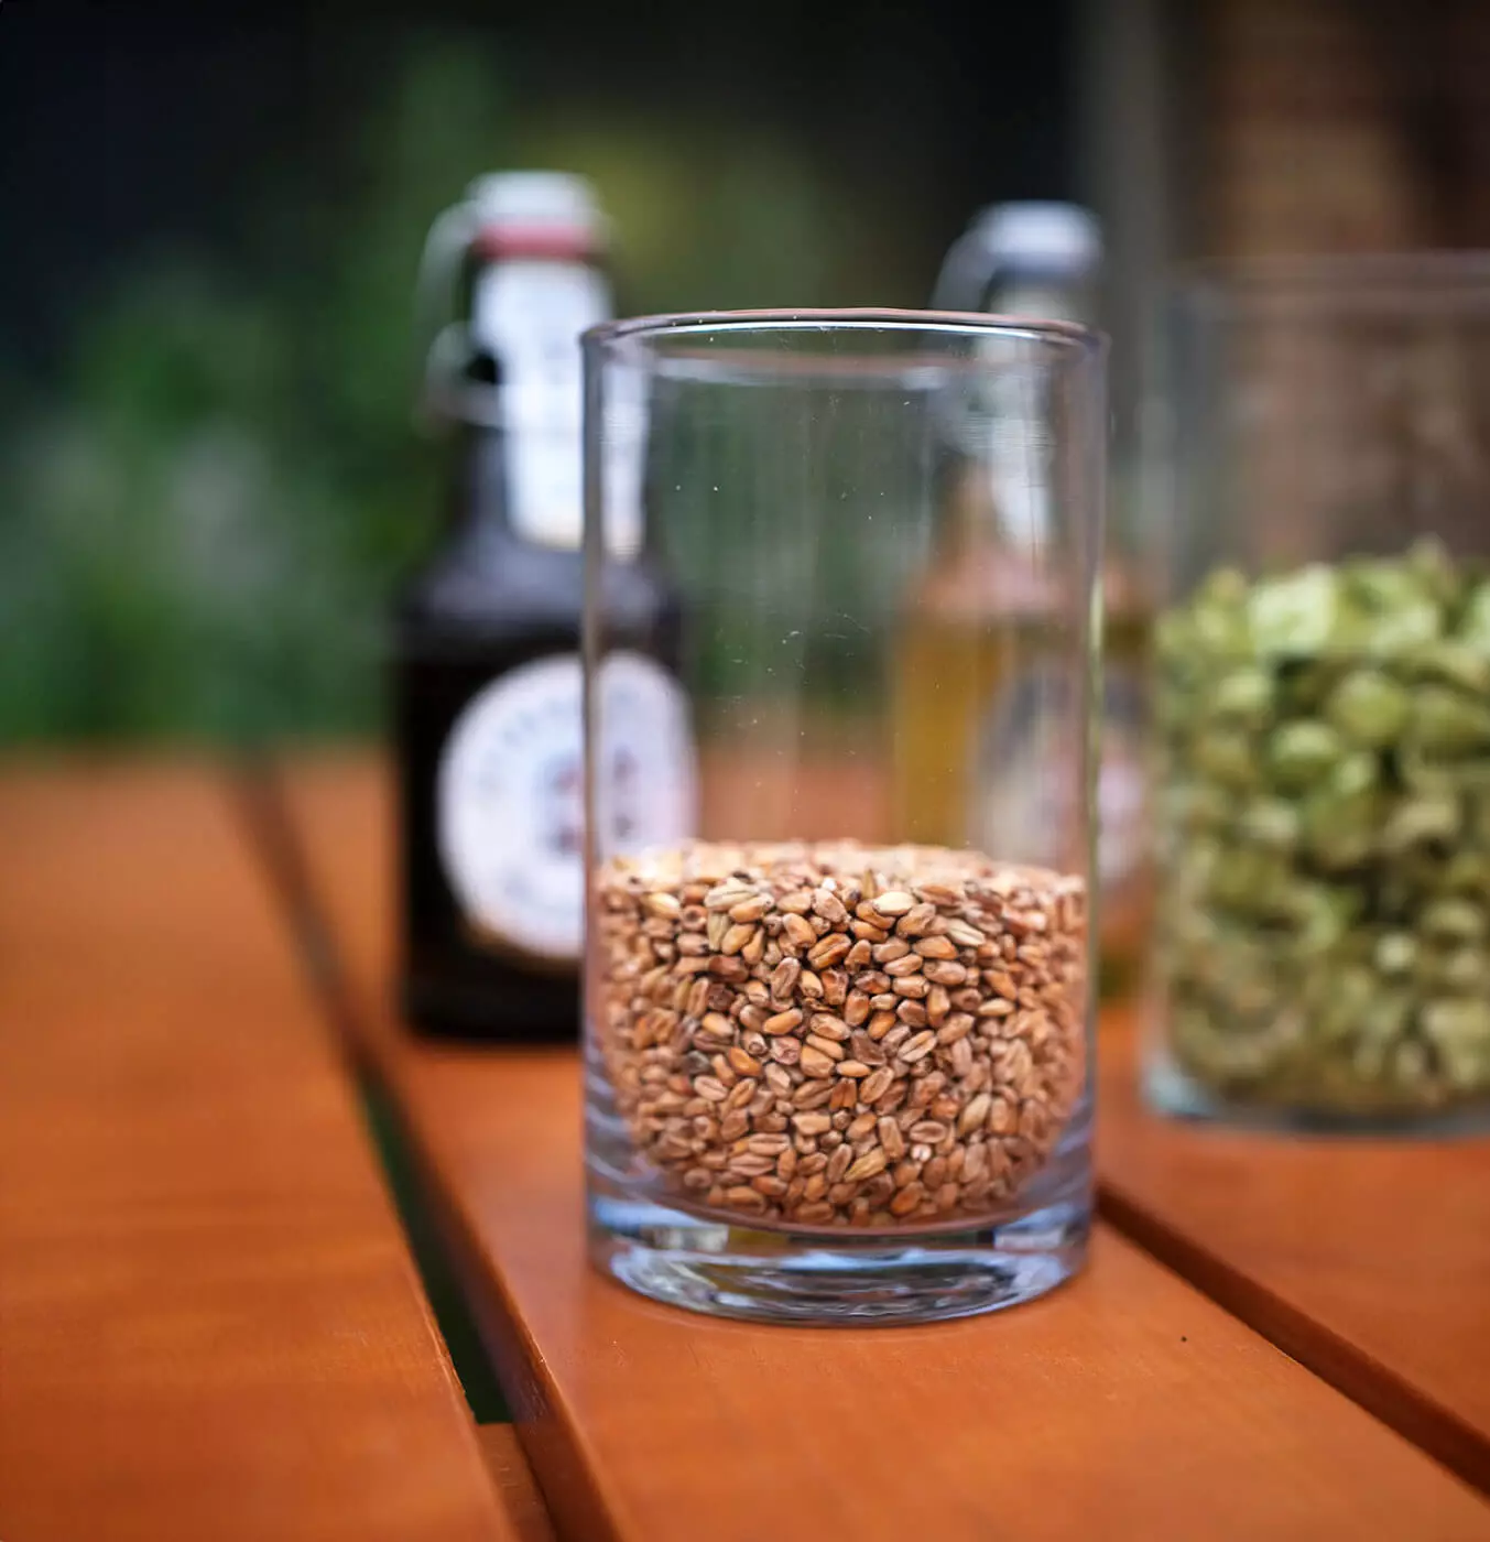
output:
{"label": "sharp round top rim of the glass holding brown grain", "polygon": [[1053,344],[1083,358],[1100,358],[1106,333],[1074,321],[1043,316],[1007,316],[993,311],[910,310],[885,305],[773,307],[764,310],[659,311],[603,321],[580,335],[586,348],[666,336],[771,332],[904,332],[946,336],[992,336]]}

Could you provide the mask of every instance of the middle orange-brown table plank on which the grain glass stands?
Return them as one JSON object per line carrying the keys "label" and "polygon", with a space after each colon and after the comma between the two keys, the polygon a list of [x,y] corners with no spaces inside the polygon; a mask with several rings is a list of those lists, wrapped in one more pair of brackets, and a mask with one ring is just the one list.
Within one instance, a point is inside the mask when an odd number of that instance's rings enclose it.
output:
{"label": "middle orange-brown table plank on which the grain glass stands", "polygon": [[386,1010],[383,774],[284,785],[561,1534],[1490,1537],[1478,1496],[1111,1232],[1044,1301],[916,1329],[713,1321],[602,1278],[572,1053],[406,1038]]}

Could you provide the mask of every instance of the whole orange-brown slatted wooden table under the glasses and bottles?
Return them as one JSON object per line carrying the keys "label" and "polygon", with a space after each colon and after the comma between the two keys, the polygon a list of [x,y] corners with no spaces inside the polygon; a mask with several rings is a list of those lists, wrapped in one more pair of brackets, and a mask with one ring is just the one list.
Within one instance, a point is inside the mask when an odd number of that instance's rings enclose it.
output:
{"label": "whole orange-brown slatted wooden table under the glasses and bottles", "polygon": [[[571,1053],[393,1022],[375,762],[12,771],[0,831],[3,1542],[1490,1539],[1485,1144],[1160,1124],[1117,1025],[1080,1280],[932,1328],[713,1321],[585,1266]],[[521,1451],[466,1414],[353,1066]]]}

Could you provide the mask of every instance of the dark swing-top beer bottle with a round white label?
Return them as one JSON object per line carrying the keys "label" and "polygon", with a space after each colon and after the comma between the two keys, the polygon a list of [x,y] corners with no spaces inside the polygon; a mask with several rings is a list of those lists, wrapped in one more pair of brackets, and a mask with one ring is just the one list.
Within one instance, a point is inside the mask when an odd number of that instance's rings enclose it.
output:
{"label": "dark swing-top beer bottle with a round white label", "polygon": [[[585,799],[580,333],[611,313],[605,221],[580,177],[478,179],[421,270],[424,415],[447,433],[449,520],[393,615],[401,998],[427,1033],[574,1039]],[[437,327],[432,315],[453,315]],[[631,449],[640,456],[640,446]],[[609,745],[626,843],[689,817],[677,606],[640,492],[608,510],[606,625],[654,731]]]}

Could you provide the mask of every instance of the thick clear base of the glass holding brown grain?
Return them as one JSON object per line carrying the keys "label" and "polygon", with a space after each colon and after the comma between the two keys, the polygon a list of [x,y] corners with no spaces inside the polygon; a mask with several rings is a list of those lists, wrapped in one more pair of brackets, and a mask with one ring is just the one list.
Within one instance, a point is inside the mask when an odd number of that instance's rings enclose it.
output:
{"label": "thick clear base of the glass holding brown grain", "polygon": [[787,1234],[699,1220],[591,1180],[589,1255],[671,1306],[767,1323],[930,1323],[1044,1295],[1086,1260],[1083,1192],[972,1231]]}

